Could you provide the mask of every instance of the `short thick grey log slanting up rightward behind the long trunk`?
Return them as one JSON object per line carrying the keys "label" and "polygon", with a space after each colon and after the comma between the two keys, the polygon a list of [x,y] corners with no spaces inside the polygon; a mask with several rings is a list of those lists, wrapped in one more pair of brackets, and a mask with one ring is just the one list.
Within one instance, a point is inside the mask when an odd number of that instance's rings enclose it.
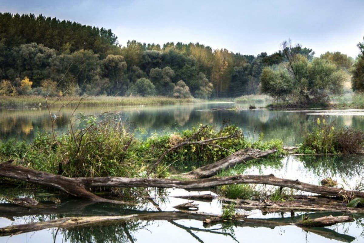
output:
{"label": "short thick grey log slanting up rightward behind the long trunk", "polygon": [[208,178],[217,175],[219,172],[225,169],[233,168],[234,166],[245,163],[246,161],[253,160],[254,158],[260,158],[268,156],[269,154],[276,153],[277,149],[259,150],[259,149],[244,149],[239,150],[222,160],[219,160],[213,164],[205,165],[197,168],[193,171],[181,174],[186,178]]}

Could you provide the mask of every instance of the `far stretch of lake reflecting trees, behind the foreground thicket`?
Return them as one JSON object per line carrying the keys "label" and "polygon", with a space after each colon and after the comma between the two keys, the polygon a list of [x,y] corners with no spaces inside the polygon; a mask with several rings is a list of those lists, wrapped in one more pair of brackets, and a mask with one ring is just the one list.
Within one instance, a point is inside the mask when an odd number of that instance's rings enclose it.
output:
{"label": "far stretch of lake reflecting trees, behind the foreground thicket", "polygon": [[[262,105],[264,106],[264,105]],[[226,110],[228,107],[238,109]],[[264,140],[279,138],[284,144],[295,145],[301,142],[305,130],[316,119],[325,118],[334,125],[353,126],[364,129],[364,111],[271,111],[266,109],[249,110],[248,105],[234,103],[203,103],[174,106],[148,107],[80,107],[74,120],[82,113],[101,114],[107,111],[120,111],[120,117],[140,137],[153,133],[171,133],[199,124],[211,124],[219,128],[224,121],[237,124],[251,139],[257,140],[264,134]],[[54,129],[58,133],[67,133],[70,124],[71,109],[57,110]],[[40,131],[51,131],[51,119],[46,109],[37,110],[0,110],[0,136],[3,140],[17,137],[30,140]],[[76,124],[77,126],[77,124]]]}

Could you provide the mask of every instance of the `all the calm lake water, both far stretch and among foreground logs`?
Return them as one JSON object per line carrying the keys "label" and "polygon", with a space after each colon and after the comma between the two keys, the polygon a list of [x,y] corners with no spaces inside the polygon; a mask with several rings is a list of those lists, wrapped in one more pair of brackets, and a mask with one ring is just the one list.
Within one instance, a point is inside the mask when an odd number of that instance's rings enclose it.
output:
{"label": "all the calm lake water, both far stretch and among foreground logs", "polygon": [[[237,110],[224,108],[237,106]],[[280,138],[285,145],[295,145],[301,141],[302,134],[317,118],[325,118],[335,125],[354,126],[364,129],[363,110],[307,110],[307,111],[269,111],[249,110],[245,105],[234,103],[191,104],[162,107],[80,107],[83,114],[100,114],[106,111],[120,111],[120,117],[127,122],[139,137],[145,138],[154,133],[170,133],[198,124],[212,124],[217,128],[229,120],[240,126],[246,136],[256,140],[264,134],[265,140]],[[70,109],[57,114],[54,128],[58,133],[66,133],[70,122]],[[78,113],[77,113],[78,114]],[[72,118],[73,121],[75,118]],[[78,126],[79,124],[76,124]],[[1,139],[17,137],[31,140],[39,131],[50,131],[51,120],[47,110],[1,110]],[[246,166],[245,174],[267,175],[299,179],[319,184],[325,177],[332,177],[345,188],[358,187],[364,175],[363,156],[293,157],[287,156],[277,161],[262,161],[259,165]],[[302,176],[304,175],[304,176]],[[270,190],[271,188],[266,188]],[[150,189],[149,195],[163,211],[175,211],[174,205],[187,202],[173,196],[191,195],[206,192],[187,192],[182,189],[167,191]],[[11,197],[32,196],[37,199],[50,199],[50,195],[20,189],[0,188],[0,227],[12,224],[38,222],[65,216],[127,215],[154,212],[157,209],[149,202],[138,206],[122,207],[111,204],[89,204],[80,201],[62,201],[48,213],[40,214],[31,209],[19,207],[16,213],[9,213]],[[56,195],[55,195],[56,196]],[[222,202],[197,202],[199,212],[221,213]],[[49,204],[48,206],[52,205]],[[258,210],[249,212],[250,218],[269,218],[289,222],[289,214],[269,213],[262,215]],[[297,217],[302,213],[297,212]],[[320,216],[335,214],[326,213]],[[317,215],[317,214],[316,214]],[[315,215],[312,215],[314,217]],[[203,227],[200,220],[181,219],[175,221],[135,220],[127,223],[113,223],[107,226],[79,227],[71,230],[56,228],[15,236],[0,237],[5,242],[364,242],[364,215],[356,215],[356,221],[306,232],[296,226],[264,227],[255,225],[218,224]]]}

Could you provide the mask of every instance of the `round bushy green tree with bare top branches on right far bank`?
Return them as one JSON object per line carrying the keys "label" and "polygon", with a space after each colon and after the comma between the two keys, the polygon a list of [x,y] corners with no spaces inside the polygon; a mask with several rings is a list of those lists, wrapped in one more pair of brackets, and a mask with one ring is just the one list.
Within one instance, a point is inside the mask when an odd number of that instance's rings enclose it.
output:
{"label": "round bushy green tree with bare top branches on right far bank", "polygon": [[346,71],[338,70],[326,56],[312,59],[309,54],[302,55],[297,51],[299,46],[297,49],[287,46],[287,42],[284,44],[287,62],[277,70],[263,69],[260,77],[262,93],[271,95],[276,101],[307,107],[327,103],[330,94],[343,92],[344,83],[350,79]]}

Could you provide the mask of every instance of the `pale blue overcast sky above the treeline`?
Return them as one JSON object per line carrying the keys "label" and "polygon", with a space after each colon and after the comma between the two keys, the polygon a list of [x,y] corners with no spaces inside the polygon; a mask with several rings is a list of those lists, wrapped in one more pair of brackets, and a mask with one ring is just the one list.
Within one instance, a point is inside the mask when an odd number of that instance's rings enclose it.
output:
{"label": "pale blue overcast sky above the treeline", "polygon": [[316,56],[355,57],[364,36],[364,0],[0,0],[0,12],[111,28],[122,46],[198,42],[250,55],[272,54],[290,38]]}

